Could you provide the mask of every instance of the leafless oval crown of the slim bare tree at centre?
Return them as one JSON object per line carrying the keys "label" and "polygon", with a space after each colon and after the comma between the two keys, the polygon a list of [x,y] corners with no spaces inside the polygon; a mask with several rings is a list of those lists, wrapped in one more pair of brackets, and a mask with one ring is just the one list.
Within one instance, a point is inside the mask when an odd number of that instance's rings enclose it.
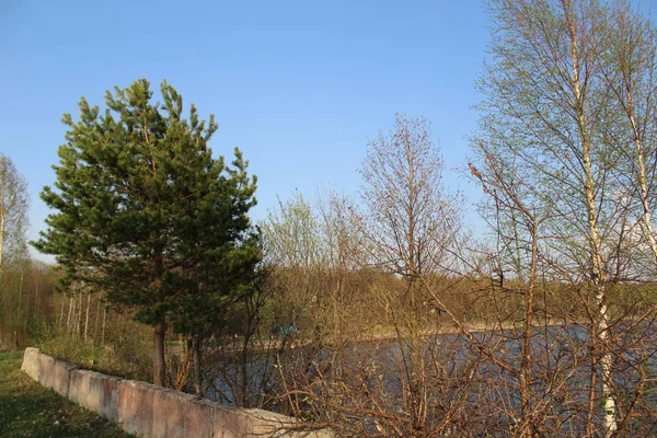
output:
{"label": "leafless oval crown of the slim bare tree at centre", "polygon": [[368,145],[360,170],[367,206],[361,229],[376,243],[372,261],[408,280],[412,306],[417,276],[441,267],[459,230],[456,197],[442,185],[442,168],[427,120],[396,115],[390,132]]}

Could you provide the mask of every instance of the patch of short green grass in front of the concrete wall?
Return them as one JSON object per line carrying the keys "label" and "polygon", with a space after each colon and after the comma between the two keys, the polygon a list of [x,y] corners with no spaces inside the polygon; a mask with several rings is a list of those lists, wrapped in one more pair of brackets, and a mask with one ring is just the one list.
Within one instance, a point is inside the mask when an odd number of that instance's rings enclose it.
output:
{"label": "patch of short green grass in front of the concrete wall", "polygon": [[21,371],[22,351],[0,351],[0,437],[130,437]]}

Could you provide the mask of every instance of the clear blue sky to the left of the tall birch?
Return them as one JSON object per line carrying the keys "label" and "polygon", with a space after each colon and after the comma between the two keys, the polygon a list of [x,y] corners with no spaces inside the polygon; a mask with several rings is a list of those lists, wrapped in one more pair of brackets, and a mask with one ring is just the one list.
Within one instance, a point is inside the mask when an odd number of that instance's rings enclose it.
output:
{"label": "clear blue sky to the left of the tall birch", "polygon": [[256,219],[296,188],[356,192],[366,145],[395,113],[433,124],[446,184],[476,200],[451,169],[476,125],[488,26],[475,0],[2,1],[0,151],[30,184],[35,238],[61,115],[76,116],[80,96],[102,104],[114,85],[166,79],[216,115],[216,154],[238,146],[250,160]]}

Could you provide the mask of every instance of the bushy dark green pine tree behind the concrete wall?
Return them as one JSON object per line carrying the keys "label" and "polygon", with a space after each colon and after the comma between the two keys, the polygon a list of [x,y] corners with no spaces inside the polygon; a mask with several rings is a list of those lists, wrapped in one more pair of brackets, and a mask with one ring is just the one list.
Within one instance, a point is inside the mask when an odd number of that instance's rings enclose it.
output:
{"label": "bushy dark green pine tree behind the concrete wall", "polygon": [[180,321],[199,309],[220,311],[260,251],[247,162],[237,149],[232,165],[214,159],[214,116],[200,120],[192,105],[185,119],[182,96],[166,82],[160,90],[163,104],[152,103],[141,79],[107,92],[104,112],[82,99],[79,120],[65,114],[56,189],[42,192],[57,212],[34,245],[57,256],[62,281],[96,284],[154,327],[153,382],[163,385],[168,325],[185,331]]}

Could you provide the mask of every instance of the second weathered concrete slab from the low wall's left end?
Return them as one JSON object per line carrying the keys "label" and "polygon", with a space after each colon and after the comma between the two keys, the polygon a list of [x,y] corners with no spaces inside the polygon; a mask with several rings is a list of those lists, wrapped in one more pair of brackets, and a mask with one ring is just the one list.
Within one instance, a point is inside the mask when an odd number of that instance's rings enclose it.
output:
{"label": "second weathered concrete slab from the low wall's left end", "polygon": [[69,399],[82,407],[118,423],[118,384],[122,379],[88,370],[72,370]]}

